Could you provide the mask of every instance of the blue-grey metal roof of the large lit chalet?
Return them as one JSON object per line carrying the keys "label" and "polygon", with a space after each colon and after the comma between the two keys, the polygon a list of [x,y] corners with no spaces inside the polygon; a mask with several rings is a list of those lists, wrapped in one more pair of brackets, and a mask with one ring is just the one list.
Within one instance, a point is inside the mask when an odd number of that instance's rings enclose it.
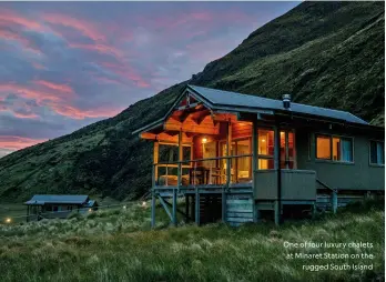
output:
{"label": "blue-grey metal roof of the large lit chalet", "polygon": [[[237,92],[223,91],[211,88],[203,88],[196,85],[187,85],[187,89],[193,90],[196,94],[201,95],[212,107],[221,109],[222,107],[236,107],[245,108],[245,111],[253,109],[274,110],[274,111],[288,111],[283,107],[282,100],[274,100],[268,98],[262,98],[258,95],[242,94]],[[250,109],[250,110],[248,110]],[[240,110],[240,109],[238,109]],[[301,104],[291,102],[291,112],[299,114],[309,114],[316,117],[323,117],[328,119],[337,119],[352,123],[368,124],[363,119],[345,111],[338,111],[327,108]]]}

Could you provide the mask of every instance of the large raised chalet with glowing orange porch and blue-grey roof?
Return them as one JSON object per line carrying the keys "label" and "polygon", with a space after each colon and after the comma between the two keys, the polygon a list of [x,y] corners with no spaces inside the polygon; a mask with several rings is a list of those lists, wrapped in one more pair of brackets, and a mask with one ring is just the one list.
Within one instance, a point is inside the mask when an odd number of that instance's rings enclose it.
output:
{"label": "large raised chalet with glowing orange porch and blue-grey roof", "polygon": [[[154,143],[155,201],[177,224],[313,214],[385,190],[384,128],[348,112],[187,85],[134,134]],[[177,209],[177,198],[185,209]]]}

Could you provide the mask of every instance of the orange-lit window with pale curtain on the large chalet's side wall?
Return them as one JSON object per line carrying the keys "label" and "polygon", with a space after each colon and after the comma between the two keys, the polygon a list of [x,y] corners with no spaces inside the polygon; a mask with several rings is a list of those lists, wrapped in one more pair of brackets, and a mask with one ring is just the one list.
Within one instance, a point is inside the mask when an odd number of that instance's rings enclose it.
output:
{"label": "orange-lit window with pale curtain on the large chalet's side wall", "polygon": [[353,162],[353,139],[316,135],[316,158],[337,162]]}

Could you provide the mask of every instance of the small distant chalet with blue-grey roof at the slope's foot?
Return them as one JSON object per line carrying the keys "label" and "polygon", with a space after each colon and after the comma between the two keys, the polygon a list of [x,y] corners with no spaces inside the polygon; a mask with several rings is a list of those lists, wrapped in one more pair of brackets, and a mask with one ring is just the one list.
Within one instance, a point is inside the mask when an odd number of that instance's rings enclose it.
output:
{"label": "small distant chalet with blue-grey roof at the slope's foot", "polygon": [[87,213],[98,210],[98,202],[88,195],[37,194],[24,203],[27,222],[42,219],[65,219],[71,212]]}

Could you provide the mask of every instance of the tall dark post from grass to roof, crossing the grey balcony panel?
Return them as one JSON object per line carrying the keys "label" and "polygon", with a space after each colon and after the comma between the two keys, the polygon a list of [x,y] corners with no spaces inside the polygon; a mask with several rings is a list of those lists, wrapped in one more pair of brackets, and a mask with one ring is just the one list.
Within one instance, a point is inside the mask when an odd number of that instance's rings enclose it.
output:
{"label": "tall dark post from grass to roof, crossing the grey balcony panel", "polygon": [[275,147],[274,147],[274,163],[275,171],[277,173],[277,198],[275,201],[275,224],[278,225],[281,223],[282,215],[282,171],[281,171],[281,130],[278,123],[276,123],[274,128],[275,134]]}

